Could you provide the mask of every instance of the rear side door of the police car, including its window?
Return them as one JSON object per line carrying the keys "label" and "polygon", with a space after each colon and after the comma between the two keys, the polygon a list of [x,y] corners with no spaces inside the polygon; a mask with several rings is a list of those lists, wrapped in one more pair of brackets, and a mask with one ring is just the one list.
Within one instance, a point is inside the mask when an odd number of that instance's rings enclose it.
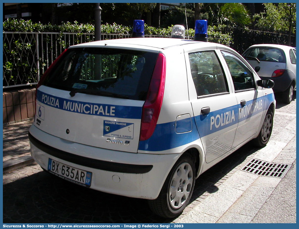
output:
{"label": "rear side door of the police car, including its window", "polygon": [[[237,100],[215,50],[188,54],[196,97],[190,100],[207,163],[231,150],[238,124]],[[194,86],[193,86],[193,85]]]}

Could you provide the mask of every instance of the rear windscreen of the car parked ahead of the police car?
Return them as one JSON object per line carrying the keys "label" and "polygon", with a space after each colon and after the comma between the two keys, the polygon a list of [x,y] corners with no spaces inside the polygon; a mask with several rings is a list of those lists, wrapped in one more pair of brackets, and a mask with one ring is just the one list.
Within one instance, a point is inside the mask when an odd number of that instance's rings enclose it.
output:
{"label": "rear windscreen of the car parked ahead of the police car", "polygon": [[271,47],[255,47],[248,49],[243,54],[246,60],[257,58],[259,61],[286,63],[286,55],[283,50]]}

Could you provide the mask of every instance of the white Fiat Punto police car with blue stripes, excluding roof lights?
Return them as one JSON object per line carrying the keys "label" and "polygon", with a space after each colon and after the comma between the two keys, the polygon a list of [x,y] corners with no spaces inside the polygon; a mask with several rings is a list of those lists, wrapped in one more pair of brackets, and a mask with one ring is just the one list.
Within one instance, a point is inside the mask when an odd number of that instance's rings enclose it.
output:
{"label": "white Fiat Punto police car with blue stripes, excluding roof lights", "polygon": [[36,89],[34,160],[65,180],[148,199],[163,217],[187,206],[197,177],[269,141],[273,81],[233,49],[175,38],[69,47]]}

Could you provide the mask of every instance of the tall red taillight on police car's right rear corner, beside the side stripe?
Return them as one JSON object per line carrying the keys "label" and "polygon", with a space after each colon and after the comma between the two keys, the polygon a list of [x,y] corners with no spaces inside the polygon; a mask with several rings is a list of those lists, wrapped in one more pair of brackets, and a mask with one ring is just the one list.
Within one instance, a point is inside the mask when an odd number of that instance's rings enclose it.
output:
{"label": "tall red taillight on police car's right rear corner, beside the side stripe", "polygon": [[142,107],[140,141],[149,139],[156,127],[164,95],[166,58],[159,54],[152,73],[147,99]]}

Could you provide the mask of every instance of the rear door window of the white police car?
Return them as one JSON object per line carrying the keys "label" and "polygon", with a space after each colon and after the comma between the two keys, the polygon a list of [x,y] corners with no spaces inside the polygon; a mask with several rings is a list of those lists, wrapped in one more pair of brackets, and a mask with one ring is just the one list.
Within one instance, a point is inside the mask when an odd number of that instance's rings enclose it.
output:
{"label": "rear door window of the white police car", "polygon": [[189,61],[197,96],[228,92],[222,67],[214,51],[190,53]]}

